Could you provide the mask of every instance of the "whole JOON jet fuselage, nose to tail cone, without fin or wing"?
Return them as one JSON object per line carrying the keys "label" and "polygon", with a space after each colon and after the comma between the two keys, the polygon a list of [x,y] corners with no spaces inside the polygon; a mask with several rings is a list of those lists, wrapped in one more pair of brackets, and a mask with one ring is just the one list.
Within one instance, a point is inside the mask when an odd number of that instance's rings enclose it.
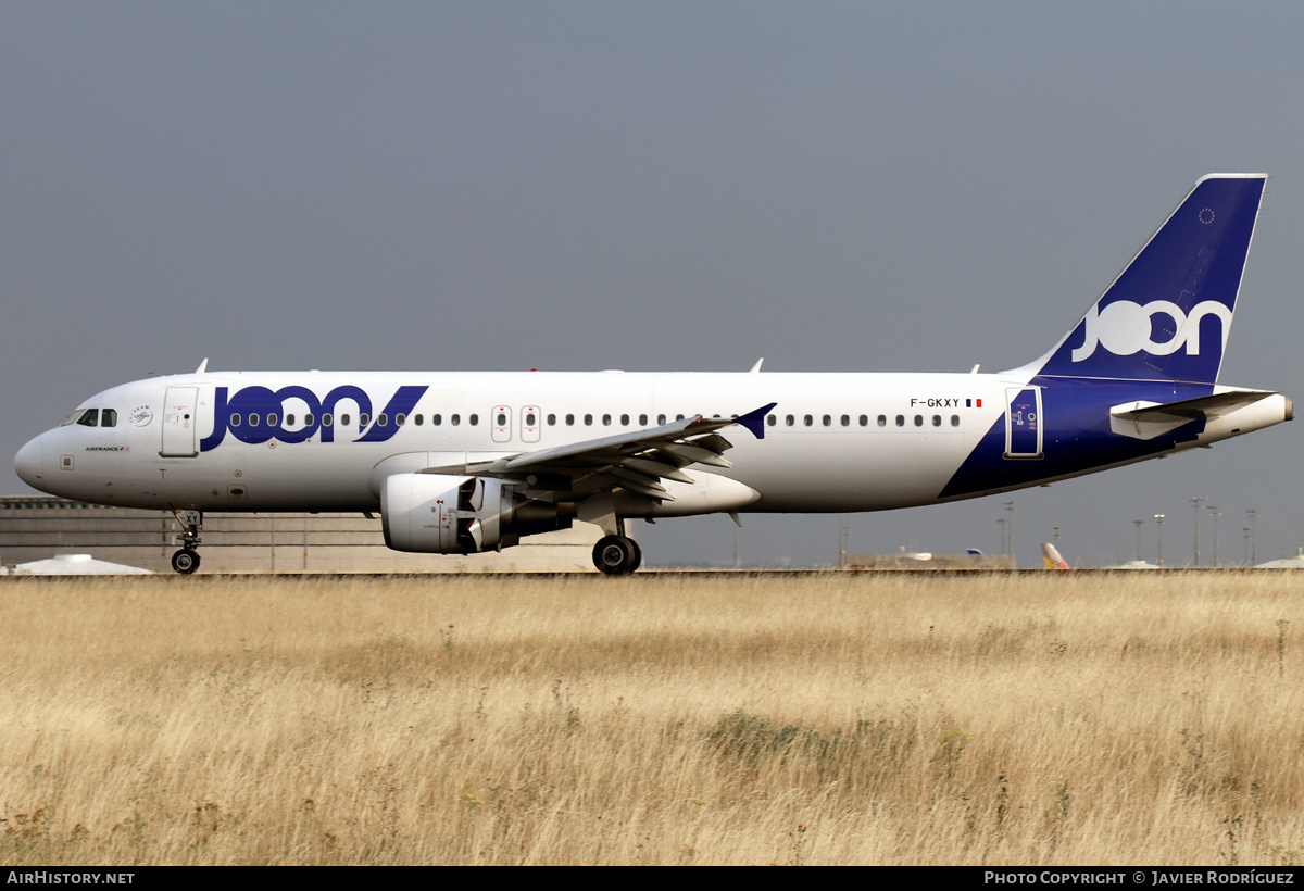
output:
{"label": "whole JOON jet fuselage, nose to tail cone, without fin or wing", "polygon": [[70,419],[23,446],[16,470],[51,494],[128,507],[376,511],[394,474],[473,475],[467,466],[775,403],[764,438],[721,430],[732,467],[690,464],[695,485],[666,481],[672,500],[622,497],[615,513],[887,510],[1080,476],[1291,417],[1288,399],[1257,394],[1219,417],[1179,419],[1158,437],[1111,419],[1118,406],[1209,391],[1020,370],[219,372],[91,397],[73,417],[112,410],[112,427]]}

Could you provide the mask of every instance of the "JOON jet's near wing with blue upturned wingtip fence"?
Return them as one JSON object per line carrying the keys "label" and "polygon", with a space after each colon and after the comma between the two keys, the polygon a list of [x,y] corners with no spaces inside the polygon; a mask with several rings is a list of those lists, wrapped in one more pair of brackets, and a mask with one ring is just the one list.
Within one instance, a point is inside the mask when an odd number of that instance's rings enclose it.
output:
{"label": "JOON jet's near wing with blue upturned wingtip fence", "polygon": [[600,492],[626,489],[655,501],[674,501],[662,480],[692,483],[689,464],[732,467],[724,453],[733,447],[717,430],[741,425],[765,438],[765,415],[777,403],[734,417],[703,417],[634,430],[572,445],[524,451],[469,464],[428,467],[422,474],[460,474],[510,480],[516,491],[541,501],[582,501]]}

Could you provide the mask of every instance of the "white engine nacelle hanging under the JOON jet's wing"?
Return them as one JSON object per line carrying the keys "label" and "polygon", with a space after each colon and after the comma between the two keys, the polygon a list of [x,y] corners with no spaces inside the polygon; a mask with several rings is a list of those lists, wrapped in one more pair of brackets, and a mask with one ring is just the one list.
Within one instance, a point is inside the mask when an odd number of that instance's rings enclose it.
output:
{"label": "white engine nacelle hanging under the JOON jet's wing", "polygon": [[381,487],[385,544],[419,553],[510,548],[523,535],[570,528],[557,505],[522,498],[502,480],[393,474]]}

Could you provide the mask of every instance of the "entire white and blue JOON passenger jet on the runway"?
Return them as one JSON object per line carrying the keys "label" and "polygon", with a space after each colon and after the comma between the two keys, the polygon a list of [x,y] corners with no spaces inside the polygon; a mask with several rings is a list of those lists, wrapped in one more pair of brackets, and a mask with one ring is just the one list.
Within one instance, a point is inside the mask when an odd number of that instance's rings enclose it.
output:
{"label": "entire white and blue JOON passenger jet on the runway", "polygon": [[[1264,174],[1204,176],[1041,359],[969,374],[210,372],[104,390],[18,476],[171,510],[361,511],[395,551],[479,553],[574,521],[635,571],[626,521],[889,510],[1162,458],[1294,417],[1218,382]],[[728,457],[726,457],[728,455]]]}

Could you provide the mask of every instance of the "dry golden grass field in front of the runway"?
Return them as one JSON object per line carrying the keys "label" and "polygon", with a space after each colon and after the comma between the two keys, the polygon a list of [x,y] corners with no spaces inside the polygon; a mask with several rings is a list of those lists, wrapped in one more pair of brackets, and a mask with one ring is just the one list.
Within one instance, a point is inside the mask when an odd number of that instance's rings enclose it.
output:
{"label": "dry golden grass field in front of the runway", "polygon": [[1297,864],[1301,584],[5,579],[0,864]]}

